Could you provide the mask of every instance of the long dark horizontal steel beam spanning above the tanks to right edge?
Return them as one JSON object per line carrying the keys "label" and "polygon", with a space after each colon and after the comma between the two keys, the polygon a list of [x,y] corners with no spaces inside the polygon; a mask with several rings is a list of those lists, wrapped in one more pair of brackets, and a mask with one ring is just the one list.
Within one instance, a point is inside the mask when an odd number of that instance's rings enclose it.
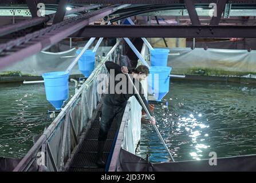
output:
{"label": "long dark horizontal steel beam spanning above the tanks to right edge", "polygon": [[256,38],[256,26],[92,25],[70,37]]}

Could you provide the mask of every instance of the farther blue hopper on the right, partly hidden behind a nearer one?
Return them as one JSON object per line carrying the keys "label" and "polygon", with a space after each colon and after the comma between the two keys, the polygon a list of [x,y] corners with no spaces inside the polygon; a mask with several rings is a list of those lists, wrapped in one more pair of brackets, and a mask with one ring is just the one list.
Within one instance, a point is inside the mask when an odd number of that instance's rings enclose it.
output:
{"label": "farther blue hopper on the right, partly hidden behind a nearer one", "polygon": [[151,53],[151,66],[167,66],[169,49],[154,48]]}

